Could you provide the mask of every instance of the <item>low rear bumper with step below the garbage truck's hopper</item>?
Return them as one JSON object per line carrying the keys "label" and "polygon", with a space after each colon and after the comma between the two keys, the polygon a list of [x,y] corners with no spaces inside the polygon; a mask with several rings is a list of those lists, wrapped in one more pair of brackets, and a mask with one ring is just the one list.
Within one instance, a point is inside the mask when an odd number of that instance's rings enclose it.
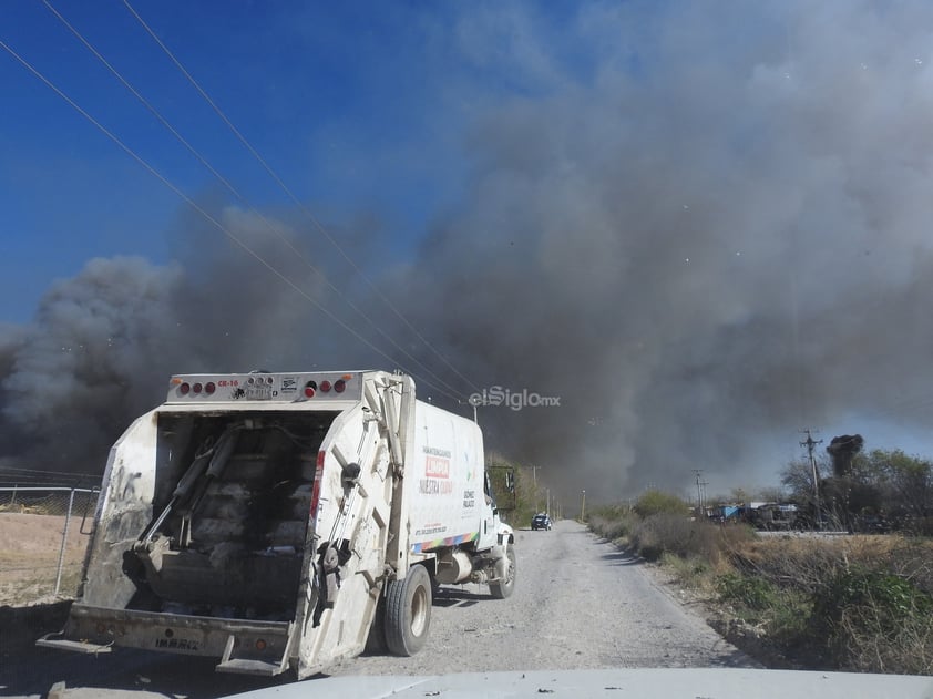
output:
{"label": "low rear bumper with step below the garbage truck's hopper", "polygon": [[[113,646],[222,658],[221,671],[277,675],[288,664],[289,621],[254,621],[110,609],[75,603],[61,634],[38,646],[109,652]],[[252,668],[252,669],[250,669]]]}

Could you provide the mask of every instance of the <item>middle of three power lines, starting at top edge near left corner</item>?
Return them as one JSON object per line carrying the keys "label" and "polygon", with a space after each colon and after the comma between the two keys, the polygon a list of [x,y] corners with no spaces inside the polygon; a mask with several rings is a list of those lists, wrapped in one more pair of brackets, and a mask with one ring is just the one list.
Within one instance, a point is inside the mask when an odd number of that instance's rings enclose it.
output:
{"label": "middle of three power lines, starting at top edge near left corner", "polygon": [[363,312],[360,308],[358,308],[358,307],[357,307],[357,306],[356,306],[352,301],[350,301],[350,300],[349,300],[346,296],[344,296],[344,294],[340,291],[340,289],[338,289],[338,288],[337,288],[337,287],[336,287],[336,286],[335,286],[335,285],[334,285],[334,284],[332,284],[329,279],[328,279],[328,278],[327,278],[327,276],[326,276],[324,273],[321,273],[321,271],[320,271],[317,267],[315,267],[315,266],[310,263],[310,260],[308,260],[308,259],[307,259],[307,258],[306,258],[306,257],[301,254],[301,251],[300,251],[300,250],[298,250],[298,249],[297,249],[297,248],[296,248],[296,247],[291,244],[291,241],[290,241],[290,240],[288,240],[288,238],[287,238],[285,235],[283,235],[283,234],[281,234],[281,232],[279,232],[276,227],[274,227],[274,226],[273,226],[273,224],[271,224],[271,222],[269,222],[269,220],[268,220],[268,218],[266,218],[266,217],[265,217],[265,216],[264,216],[260,212],[258,212],[255,207],[253,207],[253,206],[249,204],[249,202],[246,199],[246,197],[245,197],[243,194],[240,194],[240,193],[236,189],[236,187],[234,187],[234,186],[229,183],[229,181],[227,181],[227,179],[226,179],[226,178],[225,178],[225,177],[224,177],[221,173],[218,173],[218,172],[214,168],[214,166],[213,166],[213,165],[211,165],[211,163],[207,161],[207,158],[205,158],[205,157],[204,157],[204,156],[203,156],[203,155],[202,155],[202,154],[201,154],[201,153],[199,153],[199,152],[198,152],[198,151],[197,151],[197,150],[196,150],[196,148],[195,148],[195,147],[194,147],[191,143],[188,143],[188,141],[186,141],[186,140],[182,136],[182,134],[180,134],[180,133],[177,132],[177,130],[175,130],[175,129],[172,126],[172,124],[170,124],[170,123],[168,123],[168,121],[167,121],[167,120],[166,120],[166,119],[165,119],[165,117],[164,117],[164,116],[163,116],[163,115],[158,112],[158,110],[156,110],[156,109],[155,109],[155,106],[153,106],[153,104],[152,104],[152,103],[150,103],[150,102],[148,102],[148,101],[147,101],[147,100],[146,100],[146,99],[145,99],[142,94],[140,94],[140,92],[139,92],[135,88],[133,88],[133,85],[132,85],[132,84],[130,84],[130,82],[129,82],[125,78],[123,78],[123,75],[122,75],[122,74],[121,74],[121,73],[120,73],[120,72],[119,72],[119,71],[117,71],[117,70],[116,70],[116,69],[115,69],[115,68],[114,68],[114,66],[113,66],[113,65],[112,65],[112,64],[111,64],[111,63],[110,63],[110,62],[109,62],[109,61],[107,61],[107,60],[106,60],[106,59],[105,59],[105,58],[104,58],[104,56],[103,56],[103,55],[102,55],[102,54],[101,54],[101,53],[100,53],[100,52],[99,52],[99,51],[98,51],[98,50],[96,50],[96,49],[95,49],[95,48],[94,48],[94,47],[93,47],[93,45],[92,45],[92,44],[91,44],[91,43],[90,43],[90,42],[89,42],[89,41],[88,41],[88,40],[86,40],[83,35],[82,35],[82,34],[81,34],[81,32],[79,32],[79,31],[78,31],[78,30],[76,30],[76,29],[75,29],[75,28],[74,28],[74,27],[73,27],[73,25],[72,25],[72,24],[71,24],[71,23],[70,23],[70,22],[69,22],[69,21],[68,21],[68,20],[66,20],[66,19],[65,19],[62,14],[61,14],[61,12],[59,12],[59,11],[58,11],[58,10],[57,10],[57,9],[55,9],[52,4],[51,4],[51,2],[49,2],[49,0],[42,0],[42,2],[43,2],[43,4],[44,4],[44,6],[49,9],[49,11],[50,11],[50,12],[52,12],[52,13],[53,13],[53,14],[54,14],[58,19],[59,19],[59,21],[60,21],[62,24],[64,24],[64,25],[68,28],[68,30],[69,30],[69,31],[71,31],[71,33],[72,33],[72,34],[74,34],[74,37],[75,37],[79,41],[81,41],[81,43],[83,43],[83,44],[84,44],[84,47],[85,47],[85,48],[86,48],[86,49],[88,49],[91,53],[93,53],[93,54],[94,54],[94,56],[95,56],[95,58],[96,58],[96,59],[98,59],[101,63],[103,63],[103,64],[104,64],[104,66],[105,66],[105,68],[106,68],[106,69],[107,69],[111,73],[113,73],[113,75],[114,75],[114,76],[115,76],[115,78],[116,78],[116,79],[117,79],[117,80],[119,80],[119,81],[123,84],[123,86],[124,86],[124,88],[126,88],[126,89],[127,89],[127,90],[129,90],[129,91],[133,94],[133,96],[134,96],[134,97],[136,97],[136,100],[139,100],[139,101],[143,104],[143,106],[145,106],[145,107],[146,107],[146,109],[147,109],[147,110],[152,113],[152,115],[153,115],[153,116],[155,116],[155,117],[158,120],[158,122],[160,122],[160,123],[161,123],[161,124],[162,124],[162,125],[163,125],[166,130],[168,130],[168,132],[170,132],[173,136],[175,136],[175,138],[176,138],[176,140],[177,140],[177,141],[178,141],[182,145],[183,145],[183,146],[185,146],[185,148],[187,148],[187,151],[188,151],[192,155],[194,155],[194,156],[195,156],[195,157],[196,157],[196,158],[201,162],[201,164],[202,164],[202,165],[204,165],[204,166],[205,166],[205,167],[206,167],[206,168],[211,172],[211,174],[213,174],[213,175],[214,175],[214,176],[215,176],[215,177],[216,177],[216,178],[221,182],[221,184],[223,184],[223,185],[224,185],[224,186],[225,186],[225,187],[226,187],[226,188],[227,188],[227,189],[228,189],[228,191],[229,191],[229,192],[230,192],[230,193],[232,193],[232,194],[233,194],[233,195],[234,195],[234,196],[235,196],[235,197],[239,201],[239,202],[242,202],[242,203],[243,203],[243,204],[247,207],[247,209],[249,210],[249,213],[252,213],[252,214],[254,214],[255,216],[257,216],[257,217],[258,217],[258,218],[259,218],[259,219],[260,219],[260,220],[265,224],[265,226],[266,226],[266,228],[269,230],[269,233],[271,233],[271,234],[273,234],[273,235],[275,235],[277,238],[279,238],[283,243],[285,243],[285,245],[286,245],[286,246],[288,246],[288,248],[289,248],[293,253],[295,253],[295,255],[296,255],[296,256],[297,256],[297,257],[298,257],[298,258],[299,258],[303,263],[305,263],[305,264],[308,266],[308,268],[310,268],[310,270],[311,270],[311,271],[314,271],[316,275],[318,275],[318,276],[319,276],[319,277],[320,277],[320,278],[325,281],[325,284],[326,284],[326,285],[327,285],[327,286],[328,286],[331,290],[334,290],[334,291],[337,294],[337,296],[338,296],[338,297],[340,297],[340,299],[341,299],[341,300],[344,300],[344,302],[346,302],[346,304],[347,304],[347,306],[349,306],[349,307],[350,307],[353,311],[356,311],[357,313],[359,313],[359,315],[363,318],[363,320],[366,320],[366,321],[367,321],[367,322],[368,322],[368,323],[369,323],[372,328],[375,328],[375,329],[376,329],[376,331],[377,331],[377,332],[379,332],[379,335],[381,335],[381,336],[382,336],[386,340],[388,340],[388,341],[389,341],[389,342],[390,342],[390,343],[391,343],[391,345],[392,345],[392,346],[393,346],[393,347],[394,347],[394,348],[396,348],[399,352],[401,352],[401,353],[402,353],[402,356],[407,357],[410,361],[414,362],[414,364],[416,364],[416,366],[420,367],[420,368],[421,368],[421,369],[422,369],[422,370],[423,370],[423,371],[424,371],[428,376],[430,376],[432,379],[434,379],[438,383],[440,383],[440,384],[441,384],[441,386],[443,386],[444,388],[449,389],[451,392],[457,393],[457,389],[454,389],[452,386],[450,386],[449,383],[447,383],[447,382],[445,382],[443,379],[441,379],[438,374],[435,374],[433,371],[431,371],[431,370],[430,370],[430,369],[429,369],[429,368],[428,368],[424,363],[422,363],[422,362],[421,362],[421,361],[419,361],[416,357],[413,357],[411,353],[409,353],[409,352],[408,352],[404,348],[402,348],[402,347],[401,347],[398,342],[396,342],[396,341],[394,341],[394,339],[392,339],[392,338],[391,338],[391,337],[390,337],[390,336],[389,336],[389,335],[388,335],[385,330],[382,330],[382,329],[381,329],[381,328],[380,328],[380,327],[379,327],[376,322],[373,322],[373,321],[372,321],[372,320],[371,320],[371,319],[370,319],[370,318],[369,318],[369,317],[368,317],[368,316],[367,316],[367,315],[366,315],[366,313],[365,313],[365,312]]}

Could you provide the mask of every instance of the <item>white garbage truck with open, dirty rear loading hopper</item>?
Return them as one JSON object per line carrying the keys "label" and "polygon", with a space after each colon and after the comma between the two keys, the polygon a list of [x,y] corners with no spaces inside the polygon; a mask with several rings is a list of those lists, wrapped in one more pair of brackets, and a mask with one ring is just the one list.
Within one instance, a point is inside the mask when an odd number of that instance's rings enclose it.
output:
{"label": "white garbage truck with open, dirty rear loading hopper", "polygon": [[426,643],[435,586],[515,585],[479,426],[382,371],[171,378],[110,452],[78,598],[41,646],[299,678]]}

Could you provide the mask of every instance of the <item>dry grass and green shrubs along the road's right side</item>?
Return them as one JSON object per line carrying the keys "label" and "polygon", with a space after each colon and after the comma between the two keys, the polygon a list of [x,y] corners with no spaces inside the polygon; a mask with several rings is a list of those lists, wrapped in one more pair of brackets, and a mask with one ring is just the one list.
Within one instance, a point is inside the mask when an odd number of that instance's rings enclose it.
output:
{"label": "dry grass and green shrubs along the road's right side", "polygon": [[710,610],[710,623],[769,667],[933,675],[933,541],[875,534],[758,537],[696,521],[649,491],[587,524],[657,562]]}

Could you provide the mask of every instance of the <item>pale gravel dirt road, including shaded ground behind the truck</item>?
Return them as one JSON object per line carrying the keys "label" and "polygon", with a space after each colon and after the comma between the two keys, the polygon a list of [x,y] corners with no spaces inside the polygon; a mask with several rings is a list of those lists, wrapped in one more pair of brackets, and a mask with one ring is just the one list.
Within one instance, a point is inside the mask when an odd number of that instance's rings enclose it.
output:
{"label": "pale gravel dirt road, including shaded ground behind the truck", "polygon": [[[656,585],[642,564],[583,526],[557,522],[551,532],[520,531],[517,539],[519,580],[510,599],[492,599],[475,585],[442,588],[420,654],[355,658],[328,674],[755,665]],[[211,659],[130,651],[85,658],[35,649],[28,640],[2,641],[9,652],[0,648],[0,696],[41,697],[63,681],[60,697],[68,699],[209,699],[270,683],[217,675]]]}

